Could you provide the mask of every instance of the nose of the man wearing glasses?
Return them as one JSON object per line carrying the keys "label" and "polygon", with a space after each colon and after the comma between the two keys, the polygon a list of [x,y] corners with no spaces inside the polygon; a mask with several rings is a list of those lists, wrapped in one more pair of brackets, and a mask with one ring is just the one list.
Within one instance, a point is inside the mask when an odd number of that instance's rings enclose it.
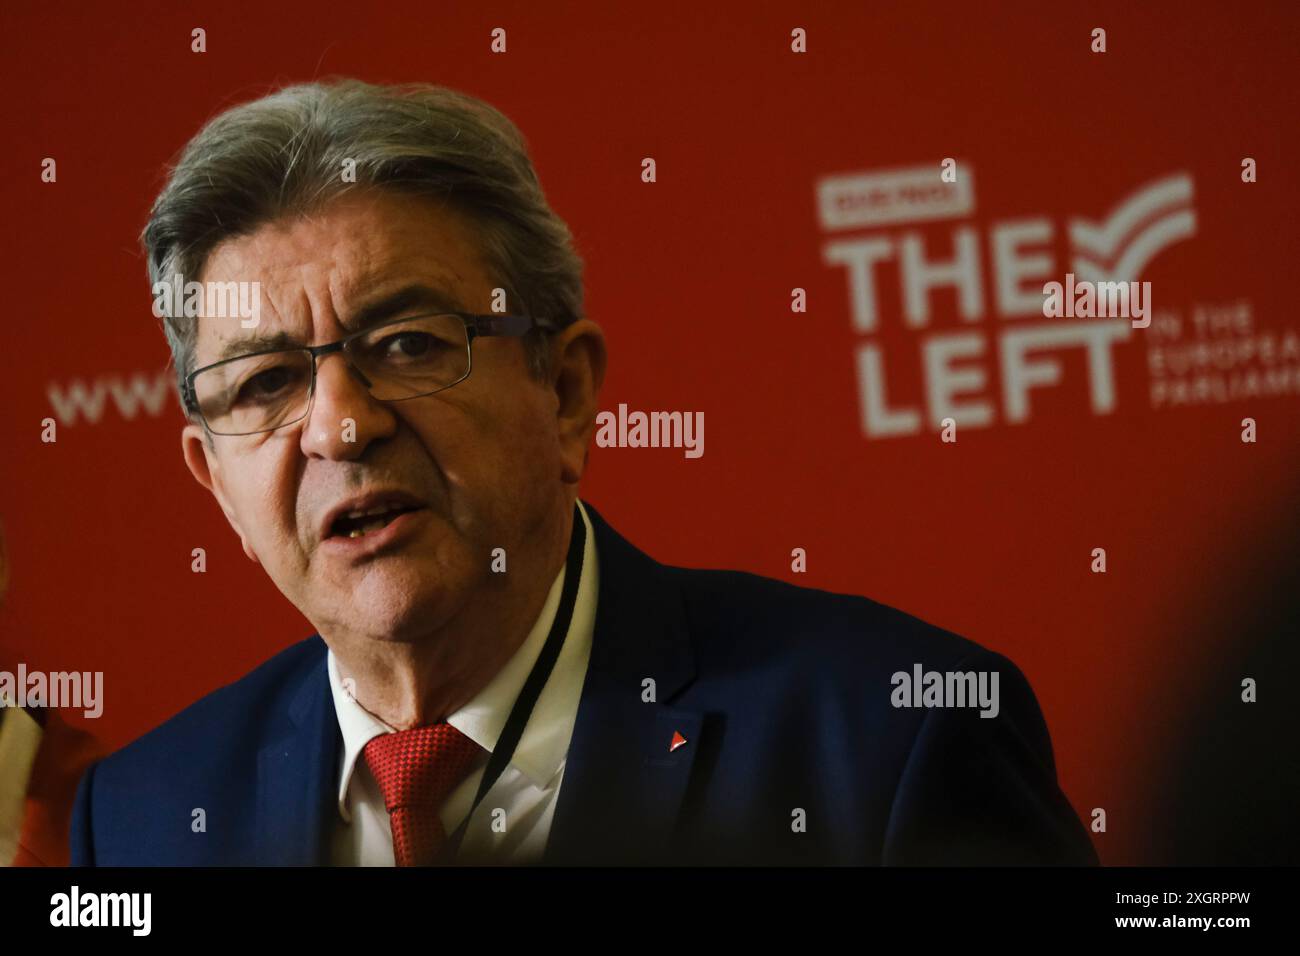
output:
{"label": "nose of the man wearing glasses", "polygon": [[396,431],[396,416],[370,397],[364,376],[343,352],[316,360],[316,395],[303,425],[303,454],[309,458],[359,458],[376,438]]}

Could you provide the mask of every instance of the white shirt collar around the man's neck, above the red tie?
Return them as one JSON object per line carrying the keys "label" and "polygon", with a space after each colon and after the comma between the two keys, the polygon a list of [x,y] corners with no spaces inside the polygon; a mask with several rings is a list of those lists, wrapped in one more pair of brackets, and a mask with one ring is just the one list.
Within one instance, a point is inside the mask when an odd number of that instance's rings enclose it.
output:
{"label": "white shirt collar around the man's neck, above the red tie", "polygon": [[[586,525],[586,546],[582,550],[582,575],[578,579],[573,619],[560,656],[555,661],[555,667],[510,760],[511,766],[523,773],[536,787],[545,787],[555,778],[564,762],[564,754],[568,752],[568,741],[577,717],[577,705],[586,676],[592,635],[595,627],[595,598],[599,593],[595,532],[582,502],[578,501],[577,505]],[[447,717],[447,723],[488,752],[497,747],[497,740],[506,726],[506,718],[510,717],[515,698],[533,670],[538,654],[542,653],[542,645],[546,643],[546,636],[550,633],[559,610],[564,575],[566,568],[560,567],[533,630],[529,631],[528,637],[524,639],[514,657],[468,704]],[[373,737],[381,734],[394,734],[396,728],[356,702],[343,685],[333,650],[328,653],[326,670],[330,693],[334,697],[334,711],[338,715],[338,726],[343,736],[338,810],[343,819],[350,821],[347,793],[361,749]]]}

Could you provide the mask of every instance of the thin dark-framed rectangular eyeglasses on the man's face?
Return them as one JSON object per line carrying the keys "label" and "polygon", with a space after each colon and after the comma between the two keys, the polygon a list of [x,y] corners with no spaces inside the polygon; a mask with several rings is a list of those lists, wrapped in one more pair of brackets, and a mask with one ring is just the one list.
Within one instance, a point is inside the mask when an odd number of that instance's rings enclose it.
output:
{"label": "thin dark-framed rectangular eyeglasses on the man's face", "polygon": [[316,394],[316,363],[342,351],[372,398],[403,402],[450,389],[469,377],[471,342],[480,336],[554,330],[549,319],[438,312],[395,319],[335,342],[238,355],[190,372],[185,401],[212,434],[273,432],[307,418]]}

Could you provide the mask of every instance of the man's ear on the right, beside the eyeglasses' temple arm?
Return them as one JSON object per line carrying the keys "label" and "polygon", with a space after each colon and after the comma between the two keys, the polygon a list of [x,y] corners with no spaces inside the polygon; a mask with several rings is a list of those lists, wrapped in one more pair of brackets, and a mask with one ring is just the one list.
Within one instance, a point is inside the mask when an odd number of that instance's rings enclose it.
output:
{"label": "man's ear on the right, beside the eyeglasses' temple arm", "polygon": [[555,424],[563,481],[577,483],[586,470],[606,363],[604,333],[590,319],[580,319],[552,339],[551,377],[558,399]]}

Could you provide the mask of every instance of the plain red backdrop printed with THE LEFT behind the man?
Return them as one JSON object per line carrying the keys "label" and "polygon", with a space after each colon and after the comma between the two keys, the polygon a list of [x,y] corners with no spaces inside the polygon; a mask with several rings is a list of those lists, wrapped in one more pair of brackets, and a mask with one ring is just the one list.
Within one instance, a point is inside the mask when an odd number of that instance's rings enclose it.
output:
{"label": "plain red backdrop printed with THE LEFT behind the man", "polygon": [[[1010,656],[1066,793],[1108,810],[1102,860],[1158,861],[1161,766],[1193,706],[1251,676],[1219,662],[1296,503],[1297,8],[464,7],[6,4],[0,666],[104,671],[103,717],[66,717],[116,747],[312,632],[182,463],[136,237],[220,109],[329,74],[430,81],[528,137],[608,337],[603,407],[705,412],[702,458],[597,447],[582,496],[660,561],[867,594]],[[844,264],[863,248],[866,291]],[[1017,313],[1017,263],[1023,304],[1080,256],[1149,281],[1153,325],[1106,326],[1095,364],[1083,339],[1034,346],[1058,380],[1017,420],[1014,333],[1104,321]],[[1197,343],[1209,369],[1176,372]],[[959,369],[954,401],[988,423],[948,444],[927,389]],[[872,388],[919,424],[874,427]]]}

